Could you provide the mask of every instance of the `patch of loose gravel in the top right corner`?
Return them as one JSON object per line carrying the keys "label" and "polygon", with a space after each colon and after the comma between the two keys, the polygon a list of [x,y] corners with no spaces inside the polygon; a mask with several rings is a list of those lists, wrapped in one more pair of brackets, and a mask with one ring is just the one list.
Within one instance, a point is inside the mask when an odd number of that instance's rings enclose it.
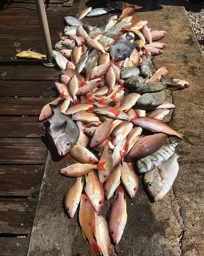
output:
{"label": "patch of loose gravel in the top right corner", "polygon": [[[193,3],[192,3],[193,2]],[[199,3],[200,2],[200,3]],[[193,31],[204,54],[204,3],[202,1],[183,0]]]}

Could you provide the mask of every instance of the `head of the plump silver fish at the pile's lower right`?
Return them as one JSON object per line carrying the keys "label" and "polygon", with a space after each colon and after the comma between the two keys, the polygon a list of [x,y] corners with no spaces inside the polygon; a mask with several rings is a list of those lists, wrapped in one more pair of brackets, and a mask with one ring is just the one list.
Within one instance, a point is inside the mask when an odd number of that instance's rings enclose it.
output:
{"label": "head of the plump silver fish at the pile's lower right", "polygon": [[145,173],[144,184],[155,201],[161,199],[165,195],[164,183],[157,168]]}

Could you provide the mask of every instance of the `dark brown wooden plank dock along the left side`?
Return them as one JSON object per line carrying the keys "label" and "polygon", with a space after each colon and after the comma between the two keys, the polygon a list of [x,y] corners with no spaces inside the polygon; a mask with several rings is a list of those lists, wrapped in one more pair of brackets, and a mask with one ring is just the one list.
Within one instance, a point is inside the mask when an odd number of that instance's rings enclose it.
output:
{"label": "dark brown wooden plank dock along the left side", "polygon": [[[63,18],[76,15],[79,0],[63,7],[62,0],[45,1],[53,46]],[[47,158],[41,108],[58,96],[53,90],[60,71],[44,68],[42,60],[11,60],[32,47],[44,54],[34,0],[0,3],[0,255],[27,254]]]}

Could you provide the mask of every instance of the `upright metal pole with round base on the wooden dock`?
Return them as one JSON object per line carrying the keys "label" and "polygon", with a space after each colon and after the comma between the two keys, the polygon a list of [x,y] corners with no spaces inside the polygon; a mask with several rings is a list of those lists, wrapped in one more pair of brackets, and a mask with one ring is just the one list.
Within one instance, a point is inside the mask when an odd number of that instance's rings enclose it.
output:
{"label": "upright metal pole with round base on the wooden dock", "polygon": [[37,12],[38,12],[38,19],[40,22],[40,28],[42,32],[42,37],[45,46],[45,52],[47,59],[42,61],[45,67],[51,68],[56,65],[54,60],[53,51],[52,51],[52,43],[50,38],[49,27],[47,23],[47,16],[45,11],[45,4],[43,0],[35,0]]}

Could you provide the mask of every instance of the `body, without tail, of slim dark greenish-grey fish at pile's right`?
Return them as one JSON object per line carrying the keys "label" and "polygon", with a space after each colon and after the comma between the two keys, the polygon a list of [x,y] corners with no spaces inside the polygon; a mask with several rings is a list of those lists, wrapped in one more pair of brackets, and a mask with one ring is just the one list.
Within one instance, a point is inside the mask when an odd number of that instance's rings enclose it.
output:
{"label": "body, without tail, of slim dark greenish-grey fish at pile's right", "polygon": [[167,84],[165,83],[142,83],[140,84],[139,87],[137,87],[134,92],[137,93],[147,93],[147,92],[157,92],[157,91],[162,91],[167,87]]}

